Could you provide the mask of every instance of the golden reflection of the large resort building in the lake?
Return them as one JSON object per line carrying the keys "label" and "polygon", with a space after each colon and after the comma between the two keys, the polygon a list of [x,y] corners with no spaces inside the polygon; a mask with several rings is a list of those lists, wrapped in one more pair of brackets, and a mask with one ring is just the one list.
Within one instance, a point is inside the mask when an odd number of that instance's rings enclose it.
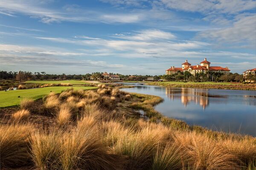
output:
{"label": "golden reflection of the large resort building in the lake", "polygon": [[190,102],[199,104],[204,109],[209,105],[208,89],[199,88],[166,88],[166,96],[171,100],[181,99],[181,103],[186,107]]}

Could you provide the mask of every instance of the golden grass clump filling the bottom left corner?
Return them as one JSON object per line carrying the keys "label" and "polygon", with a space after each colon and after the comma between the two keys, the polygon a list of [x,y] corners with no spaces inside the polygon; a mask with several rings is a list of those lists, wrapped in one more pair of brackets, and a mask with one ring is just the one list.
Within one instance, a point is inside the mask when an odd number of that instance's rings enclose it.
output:
{"label": "golden grass clump filling the bottom left corner", "polygon": [[0,125],[0,166],[20,167],[29,163],[29,124]]}

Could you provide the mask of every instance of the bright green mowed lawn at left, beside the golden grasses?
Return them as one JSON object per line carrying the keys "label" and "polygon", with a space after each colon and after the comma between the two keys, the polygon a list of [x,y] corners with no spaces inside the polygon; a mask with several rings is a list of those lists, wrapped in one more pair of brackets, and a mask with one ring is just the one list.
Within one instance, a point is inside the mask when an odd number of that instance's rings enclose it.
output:
{"label": "bright green mowed lawn at left, beside the golden grasses", "polygon": [[[55,92],[56,94],[61,93],[61,91],[67,88],[74,88],[74,89],[95,89],[96,87],[84,87],[84,86],[73,86],[73,87],[47,87],[47,88],[32,88],[26,90],[15,90],[15,91],[0,91],[0,108],[19,105],[20,101],[24,98],[31,98],[31,99],[40,99],[43,96],[49,94],[51,91]],[[20,96],[20,97],[18,97]]]}

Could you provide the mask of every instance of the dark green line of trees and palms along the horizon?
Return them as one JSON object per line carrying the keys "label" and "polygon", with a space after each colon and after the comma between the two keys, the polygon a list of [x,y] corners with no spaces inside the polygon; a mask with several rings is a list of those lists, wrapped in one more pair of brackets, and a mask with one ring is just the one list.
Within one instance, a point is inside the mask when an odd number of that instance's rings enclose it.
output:
{"label": "dark green line of trees and palms along the horizon", "polygon": [[[0,71],[0,79],[13,79],[17,81],[23,80],[49,80],[49,79],[85,79],[90,80],[93,79],[103,79],[102,76],[103,72],[94,72],[94,73],[87,73],[87,74],[47,74],[46,72],[29,72],[29,71],[18,71],[18,72],[7,72],[7,71]],[[143,81],[147,80],[149,77],[153,77],[154,80],[165,80],[165,81],[185,81],[185,82],[243,82],[243,75],[238,73],[230,73],[230,74],[223,74],[218,72],[207,72],[207,73],[197,73],[195,76],[190,74],[188,71],[185,72],[177,72],[175,74],[170,75],[159,75],[159,76],[152,76],[152,75],[122,75],[118,73],[110,73],[114,75],[119,75],[121,80],[127,81]],[[252,77],[253,78],[253,77]],[[255,79],[255,77],[254,77]]]}

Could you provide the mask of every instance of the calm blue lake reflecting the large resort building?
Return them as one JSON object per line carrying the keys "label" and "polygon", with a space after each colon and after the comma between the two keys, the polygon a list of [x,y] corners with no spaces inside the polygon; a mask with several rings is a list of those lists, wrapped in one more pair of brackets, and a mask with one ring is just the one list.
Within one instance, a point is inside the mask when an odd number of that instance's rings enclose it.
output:
{"label": "calm blue lake reflecting the large resort building", "polygon": [[155,109],[165,116],[189,125],[256,136],[256,91],[123,84],[135,87],[122,91],[162,97],[164,102]]}

